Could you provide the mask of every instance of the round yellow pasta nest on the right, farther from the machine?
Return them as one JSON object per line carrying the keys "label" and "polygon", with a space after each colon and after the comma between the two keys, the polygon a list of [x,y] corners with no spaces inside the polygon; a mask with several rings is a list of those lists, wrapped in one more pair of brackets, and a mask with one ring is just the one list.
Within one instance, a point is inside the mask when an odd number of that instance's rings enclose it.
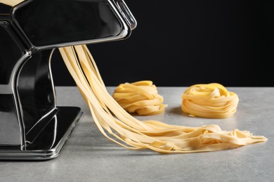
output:
{"label": "round yellow pasta nest on the right, farther from the machine", "polygon": [[218,83],[197,84],[183,92],[181,109],[190,116],[229,118],[236,112],[239,98]]}

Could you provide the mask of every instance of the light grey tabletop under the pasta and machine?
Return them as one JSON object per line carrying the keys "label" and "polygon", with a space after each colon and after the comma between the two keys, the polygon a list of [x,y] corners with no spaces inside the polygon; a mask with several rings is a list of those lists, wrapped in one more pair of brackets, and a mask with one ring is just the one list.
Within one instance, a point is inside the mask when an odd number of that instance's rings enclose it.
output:
{"label": "light grey tabletop under the pasta and machine", "polygon": [[[268,141],[208,153],[132,151],[100,133],[77,87],[56,87],[58,106],[83,113],[60,155],[44,161],[0,161],[0,181],[274,181],[274,87],[227,87],[240,102],[231,118],[191,118],[181,111],[186,87],[157,87],[164,113],[136,116],[172,125],[248,130]],[[107,87],[112,94],[115,87]]]}

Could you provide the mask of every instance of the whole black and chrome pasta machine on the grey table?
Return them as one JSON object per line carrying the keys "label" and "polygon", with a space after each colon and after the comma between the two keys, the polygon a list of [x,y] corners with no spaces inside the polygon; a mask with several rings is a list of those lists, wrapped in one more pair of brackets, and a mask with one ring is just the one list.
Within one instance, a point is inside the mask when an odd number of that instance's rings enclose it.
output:
{"label": "whole black and chrome pasta machine on the grey table", "polygon": [[136,25],[123,0],[30,0],[0,12],[0,160],[56,158],[81,118],[79,107],[56,106],[56,49],[123,40]]}

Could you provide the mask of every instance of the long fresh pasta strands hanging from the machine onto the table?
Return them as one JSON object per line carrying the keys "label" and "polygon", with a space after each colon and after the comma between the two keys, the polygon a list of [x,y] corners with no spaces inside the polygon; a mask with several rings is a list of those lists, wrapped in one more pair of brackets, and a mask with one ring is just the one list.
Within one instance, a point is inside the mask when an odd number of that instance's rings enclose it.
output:
{"label": "long fresh pasta strands hanging from the machine onto the table", "polygon": [[[5,3],[3,0],[0,2]],[[254,136],[248,131],[222,131],[218,125],[184,127],[155,120],[137,120],[108,94],[86,45],[59,50],[79,92],[89,106],[98,130],[125,148],[149,148],[159,153],[195,153],[237,148],[267,140],[266,137]]]}

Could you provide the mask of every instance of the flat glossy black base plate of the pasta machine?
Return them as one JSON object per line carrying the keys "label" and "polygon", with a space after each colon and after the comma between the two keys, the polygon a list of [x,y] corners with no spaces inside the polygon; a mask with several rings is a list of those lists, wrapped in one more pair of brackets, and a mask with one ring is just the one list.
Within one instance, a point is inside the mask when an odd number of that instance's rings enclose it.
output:
{"label": "flat glossy black base plate of the pasta machine", "polygon": [[[48,124],[37,138],[21,150],[15,146],[0,148],[0,160],[50,160],[60,155],[63,146],[81,117],[78,107],[57,107],[55,114],[48,118]],[[1,113],[0,113],[1,116]],[[27,134],[27,138],[29,138]]]}

